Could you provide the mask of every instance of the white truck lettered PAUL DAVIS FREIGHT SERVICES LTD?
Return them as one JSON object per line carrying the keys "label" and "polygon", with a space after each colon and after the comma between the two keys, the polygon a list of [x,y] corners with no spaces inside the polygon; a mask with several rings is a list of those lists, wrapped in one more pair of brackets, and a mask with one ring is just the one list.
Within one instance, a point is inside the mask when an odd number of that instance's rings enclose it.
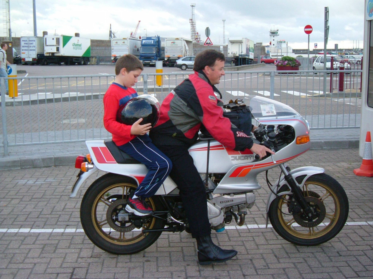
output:
{"label": "white truck lettered PAUL DAVIS FREIGHT SERVICES LTD", "polygon": [[23,65],[39,64],[44,58],[44,38],[35,36],[21,37],[21,61]]}

